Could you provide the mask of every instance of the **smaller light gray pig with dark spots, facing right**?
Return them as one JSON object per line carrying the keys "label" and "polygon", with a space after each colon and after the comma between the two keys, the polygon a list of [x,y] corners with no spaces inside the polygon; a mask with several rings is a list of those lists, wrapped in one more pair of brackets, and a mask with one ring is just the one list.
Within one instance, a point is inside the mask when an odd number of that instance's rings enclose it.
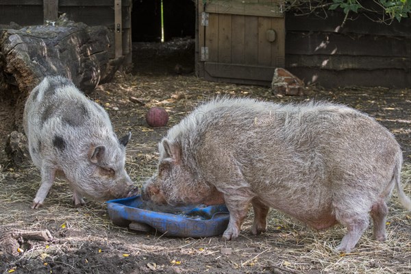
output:
{"label": "smaller light gray pig with dark spots, facing right", "polygon": [[124,169],[131,133],[119,140],[107,112],[69,79],[45,77],[27,99],[23,123],[42,177],[32,208],[42,205],[55,175],[69,181],[75,206],[85,204],[84,196],[103,200],[136,191]]}

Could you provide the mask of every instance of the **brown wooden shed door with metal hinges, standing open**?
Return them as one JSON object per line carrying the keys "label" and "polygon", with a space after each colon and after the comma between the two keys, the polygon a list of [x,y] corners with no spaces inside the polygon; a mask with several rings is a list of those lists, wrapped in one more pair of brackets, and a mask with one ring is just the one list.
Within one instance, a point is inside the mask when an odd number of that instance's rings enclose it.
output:
{"label": "brown wooden shed door with metal hinges, standing open", "polygon": [[197,73],[205,79],[269,85],[284,67],[283,1],[199,0]]}

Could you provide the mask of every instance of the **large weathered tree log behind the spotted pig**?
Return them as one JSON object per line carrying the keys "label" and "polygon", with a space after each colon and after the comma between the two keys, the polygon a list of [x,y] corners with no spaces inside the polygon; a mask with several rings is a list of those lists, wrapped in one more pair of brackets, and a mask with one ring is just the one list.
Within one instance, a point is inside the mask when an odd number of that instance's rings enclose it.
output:
{"label": "large weathered tree log behind the spotted pig", "polygon": [[0,29],[1,151],[5,136],[23,132],[25,99],[46,75],[62,75],[89,92],[109,82],[123,62],[123,57],[114,58],[114,35],[107,27],[64,16],[48,25],[12,27]]}

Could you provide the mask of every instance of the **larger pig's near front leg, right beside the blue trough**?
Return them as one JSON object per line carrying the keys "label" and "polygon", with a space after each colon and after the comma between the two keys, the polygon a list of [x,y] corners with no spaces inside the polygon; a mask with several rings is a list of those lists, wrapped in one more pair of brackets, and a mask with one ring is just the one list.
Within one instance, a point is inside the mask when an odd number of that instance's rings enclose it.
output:
{"label": "larger pig's near front leg, right beside the blue trough", "polygon": [[247,216],[249,208],[249,197],[238,197],[235,195],[224,195],[225,205],[229,210],[229,222],[223,233],[223,240],[234,240],[240,234],[242,222]]}

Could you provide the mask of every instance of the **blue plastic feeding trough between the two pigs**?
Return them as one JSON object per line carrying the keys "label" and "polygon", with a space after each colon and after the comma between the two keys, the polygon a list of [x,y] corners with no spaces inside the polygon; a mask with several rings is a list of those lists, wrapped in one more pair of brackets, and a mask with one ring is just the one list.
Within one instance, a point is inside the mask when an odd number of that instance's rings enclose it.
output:
{"label": "blue plastic feeding trough between the two pigs", "polygon": [[166,236],[217,236],[223,234],[229,221],[229,212],[225,205],[150,206],[142,201],[140,195],[106,203],[110,219],[115,225],[140,231],[156,229]]}

